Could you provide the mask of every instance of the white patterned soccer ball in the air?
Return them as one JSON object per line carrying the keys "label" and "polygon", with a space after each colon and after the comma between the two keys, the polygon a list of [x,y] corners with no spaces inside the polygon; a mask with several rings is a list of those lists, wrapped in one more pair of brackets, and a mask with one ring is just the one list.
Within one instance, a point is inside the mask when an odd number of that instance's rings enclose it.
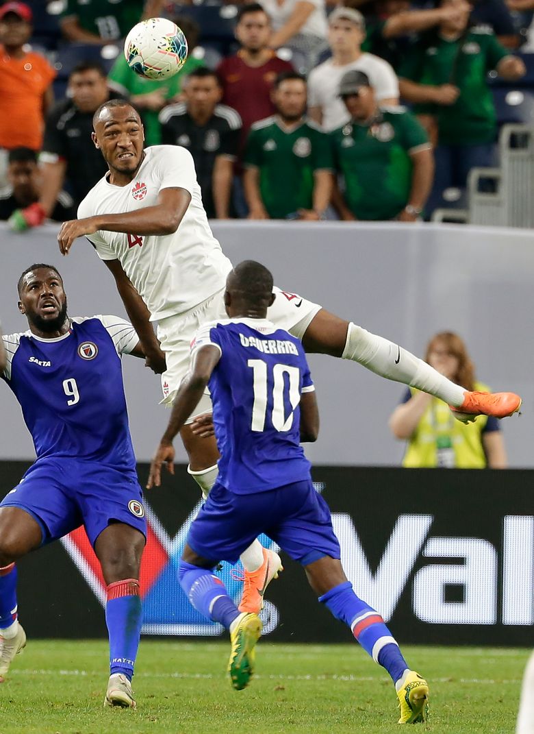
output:
{"label": "white patterned soccer ball in the air", "polygon": [[149,18],[133,26],[124,42],[128,66],[147,79],[168,79],[187,59],[183,31],[167,18]]}

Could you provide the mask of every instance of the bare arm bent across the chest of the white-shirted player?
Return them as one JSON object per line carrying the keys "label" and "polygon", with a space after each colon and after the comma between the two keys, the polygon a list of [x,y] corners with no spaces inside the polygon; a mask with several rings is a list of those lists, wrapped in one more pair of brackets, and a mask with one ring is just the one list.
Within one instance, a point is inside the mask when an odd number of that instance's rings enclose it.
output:
{"label": "bare arm bent across the chest of the white-shirted player", "polygon": [[186,189],[162,189],[158,203],[122,214],[100,214],[87,219],[71,219],[63,222],[57,241],[62,255],[68,255],[73,241],[78,237],[94,234],[98,230],[134,233],[136,235],[162,236],[174,233],[191,201]]}

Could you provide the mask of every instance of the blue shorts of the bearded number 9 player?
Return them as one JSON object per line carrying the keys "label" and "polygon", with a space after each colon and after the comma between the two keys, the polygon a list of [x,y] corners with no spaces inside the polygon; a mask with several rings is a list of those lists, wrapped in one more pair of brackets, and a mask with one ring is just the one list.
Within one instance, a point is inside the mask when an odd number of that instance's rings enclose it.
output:
{"label": "blue shorts of the bearded number 9 player", "polygon": [[20,507],[39,523],[43,545],[85,526],[91,545],[109,523],[147,535],[143,495],[136,475],[97,462],[38,459],[0,507]]}

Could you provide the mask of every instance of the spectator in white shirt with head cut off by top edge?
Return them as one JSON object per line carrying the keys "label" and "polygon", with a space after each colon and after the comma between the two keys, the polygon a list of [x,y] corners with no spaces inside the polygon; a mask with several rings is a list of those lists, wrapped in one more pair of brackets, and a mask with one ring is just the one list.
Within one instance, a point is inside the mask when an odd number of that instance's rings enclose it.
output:
{"label": "spectator in white shirt with head cut off by top edge", "polygon": [[271,48],[290,48],[291,62],[300,73],[307,73],[324,51],[326,41],[325,0],[261,0],[271,18]]}

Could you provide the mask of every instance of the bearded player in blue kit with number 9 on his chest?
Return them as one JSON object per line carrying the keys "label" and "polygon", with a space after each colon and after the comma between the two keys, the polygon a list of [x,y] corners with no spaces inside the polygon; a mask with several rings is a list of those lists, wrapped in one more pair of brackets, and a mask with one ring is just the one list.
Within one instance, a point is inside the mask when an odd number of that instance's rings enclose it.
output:
{"label": "bearded player in blue kit with number 9 on his chest", "polygon": [[117,316],[70,319],[53,266],[26,269],[18,294],[29,330],[2,337],[1,377],[21,404],[37,461],[0,504],[0,682],[26,644],[15,562],[83,525],[107,584],[105,705],[135,708],[146,520],[120,357],[145,355],[131,324]]}

